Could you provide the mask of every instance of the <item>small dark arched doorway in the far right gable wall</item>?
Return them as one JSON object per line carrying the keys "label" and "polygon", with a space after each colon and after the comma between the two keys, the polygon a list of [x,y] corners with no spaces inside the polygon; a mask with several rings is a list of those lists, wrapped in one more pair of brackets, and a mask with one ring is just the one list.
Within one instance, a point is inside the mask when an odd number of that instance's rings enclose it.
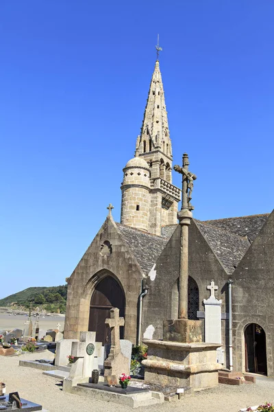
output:
{"label": "small dark arched doorway in the far right gable wall", "polygon": [[266,335],[257,323],[245,328],[245,370],[253,374],[267,374]]}

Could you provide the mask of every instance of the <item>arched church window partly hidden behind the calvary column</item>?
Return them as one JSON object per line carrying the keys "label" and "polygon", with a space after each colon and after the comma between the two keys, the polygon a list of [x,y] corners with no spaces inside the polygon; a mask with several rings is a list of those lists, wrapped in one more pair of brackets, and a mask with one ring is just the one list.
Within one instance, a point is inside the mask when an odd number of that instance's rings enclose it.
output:
{"label": "arched church window partly hidden behind the calvary column", "polygon": [[[171,292],[171,319],[177,319],[179,309],[179,279],[176,280]],[[199,310],[199,288],[193,277],[188,276],[188,319],[197,320]]]}

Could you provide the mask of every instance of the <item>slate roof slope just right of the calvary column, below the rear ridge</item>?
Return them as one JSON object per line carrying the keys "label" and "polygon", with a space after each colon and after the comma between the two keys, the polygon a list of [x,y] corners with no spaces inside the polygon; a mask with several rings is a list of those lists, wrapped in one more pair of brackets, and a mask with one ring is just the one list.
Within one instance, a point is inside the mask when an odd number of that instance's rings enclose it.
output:
{"label": "slate roof slope just right of the calvary column, below the rear ridge", "polygon": [[214,227],[208,222],[200,222],[196,219],[195,222],[225,271],[229,274],[234,272],[250,246],[247,237]]}

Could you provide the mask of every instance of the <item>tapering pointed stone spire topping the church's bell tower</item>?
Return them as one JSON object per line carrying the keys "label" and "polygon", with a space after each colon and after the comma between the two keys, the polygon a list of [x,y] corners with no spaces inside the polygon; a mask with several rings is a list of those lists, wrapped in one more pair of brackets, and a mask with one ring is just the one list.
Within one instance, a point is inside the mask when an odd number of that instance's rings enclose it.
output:
{"label": "tapering pointed stone spire topping the church's bell tower", "polygon": [[136,156],[144,152],[162,150],[166,155],[172,157],[169,123],[159,60],[155,62],[140,138],[137,140],[136,146],[138,146]]}

